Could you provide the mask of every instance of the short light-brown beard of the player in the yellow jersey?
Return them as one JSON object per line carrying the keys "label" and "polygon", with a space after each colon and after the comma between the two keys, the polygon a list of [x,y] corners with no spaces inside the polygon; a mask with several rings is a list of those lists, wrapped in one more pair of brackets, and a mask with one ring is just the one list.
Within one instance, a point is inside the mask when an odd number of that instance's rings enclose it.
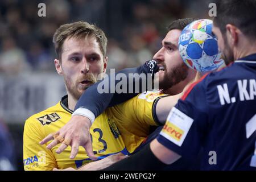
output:
{"label": "short light-brown beard of the player in the yellow jersey", "polygon": [[[89,81],[88,84],[80,85],[80,82],[83,80],[88,80]],[[68,78],[67,76],[64,75],[64,82],[65,82],[67,92],[71,94],[73,98],[75,98],[76,100],[79,100],[82,93],[84,93],[86,89],[88,89],[90,86],[96,83],[97,80],[92,73],[87,73],[84,77],[77,79],[75,83],[72,82],[71,78]]]}

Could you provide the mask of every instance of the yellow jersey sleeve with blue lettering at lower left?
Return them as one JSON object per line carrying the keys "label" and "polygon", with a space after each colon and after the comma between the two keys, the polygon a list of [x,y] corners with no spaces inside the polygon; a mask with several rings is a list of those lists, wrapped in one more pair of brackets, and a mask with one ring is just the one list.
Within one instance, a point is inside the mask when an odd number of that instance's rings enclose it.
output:
{"label": "yellow jersey sleeve with blue lettering at lower left", "polygon": [[[46,144],[39,142],[46,137],[41,126],[37,126],[33,119],[28,119],[23,133],[23,164],[25,171],[46,171],[57,167],[56,160],[46,148]],[[40,124],[40,123],[39,123]]]}

